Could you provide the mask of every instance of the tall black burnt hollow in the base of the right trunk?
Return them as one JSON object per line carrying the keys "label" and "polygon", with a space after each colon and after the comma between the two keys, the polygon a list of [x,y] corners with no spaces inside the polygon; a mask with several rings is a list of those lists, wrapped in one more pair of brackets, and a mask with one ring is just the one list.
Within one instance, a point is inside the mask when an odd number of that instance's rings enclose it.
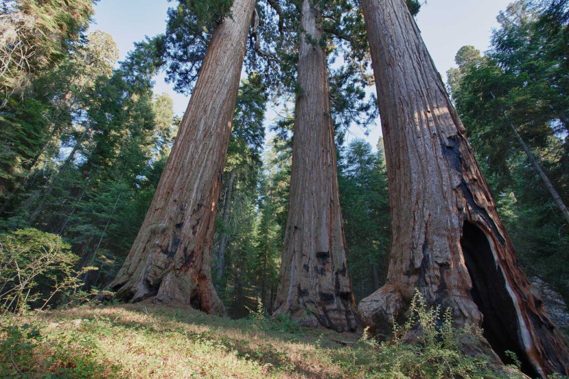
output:
{"label": "tall black burnt hollow in the base of the right trunk", "polygon": [[523,349],[516,308],[488,238],[475,224],[464,222],[460,244],[472,280],[471,298],[484,316],[484,338],[502,362],[513,364],[511,353],[508,353],[512,352],[521,362],[523,373],[539,377]]}

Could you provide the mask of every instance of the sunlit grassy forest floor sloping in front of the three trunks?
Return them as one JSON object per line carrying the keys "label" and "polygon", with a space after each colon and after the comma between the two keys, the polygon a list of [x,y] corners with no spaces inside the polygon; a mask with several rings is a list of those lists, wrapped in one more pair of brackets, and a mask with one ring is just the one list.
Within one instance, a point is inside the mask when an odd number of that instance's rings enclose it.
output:
{"label": "sunlit grassy forest floor sloping in front of the three trunks", "polygon": [[[83,306],[0,322],[2,378],[455,377],[431,376],[438,369],[429,364],[418,376],[395,375],[394,366],[413,371],[428,352],[398,347],[386,355],[385,345],[356,334],[300,328],[285,318],[270,322],[254,312],[231,320],[167,306]],[[519,377],[495,368],[486,376],[483,361],[448,354],[444,365],[472,373],[460,377]]]}

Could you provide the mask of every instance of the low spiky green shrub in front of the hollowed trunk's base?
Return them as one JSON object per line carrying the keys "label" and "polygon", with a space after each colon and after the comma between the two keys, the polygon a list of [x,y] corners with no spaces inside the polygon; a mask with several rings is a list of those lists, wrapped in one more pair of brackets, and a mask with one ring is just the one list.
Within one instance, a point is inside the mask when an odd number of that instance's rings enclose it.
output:
{"label": "low spiky green shrub in front of the hollowed trunk's base", "polygon": [[[393,336],[378,342],[366,332],[353,350],[340,351],[336,359],[345,365],[365,366],[374,379],[521,379],[516,368],[500,368],[488,357],[472,357],[460,351],[472,331],[452,324],[451,310],[427,307],[420,293],[411,302],[411,315],[403,325],[394,324]],[[411,329],[419,330],[419,343],[406,343]]]}

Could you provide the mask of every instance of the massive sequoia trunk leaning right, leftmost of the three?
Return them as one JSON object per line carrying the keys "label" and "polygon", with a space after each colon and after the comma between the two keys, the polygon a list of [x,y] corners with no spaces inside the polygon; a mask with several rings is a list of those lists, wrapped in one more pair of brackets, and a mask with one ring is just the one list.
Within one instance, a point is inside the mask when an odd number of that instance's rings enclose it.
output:
{"label": "massive sequoia trunk leaning right, leftmost of the three", "polygon": [[176,301],[225,314],[211,278],[217,200],[254,0],[235,0],[213,32],[150,209],[109,285],[130,301]]}

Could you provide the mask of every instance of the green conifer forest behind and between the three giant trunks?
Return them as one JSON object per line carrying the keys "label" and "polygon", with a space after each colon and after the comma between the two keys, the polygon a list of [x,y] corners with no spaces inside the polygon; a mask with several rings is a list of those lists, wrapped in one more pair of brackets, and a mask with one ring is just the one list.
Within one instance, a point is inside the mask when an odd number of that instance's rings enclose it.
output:
{"label": "green conifer forest behind and between the three giant trunks", "polygon": [[[228,3],[173,2],[164,34],[135,44],[118,62],[112,36],[87,32],[92,1],[0,1],[0,311],[88,298],[117,275],[180,124],[170,96],[153,92],[155,77],[165,73],[176,91],[191,93]],[[421,3],[407,3],[420,11]],[[323,13],[347,262],[358,302],[387,274],[385,151],[381,138],[376,147],[345,141],[350,127],[378,122],[361,12],[352,1],[332,1]],[[271,0],[259,2],[256,17],[213,246],[216,290],[232,318],[258,304],[261,314],[274,309],[289,203],[298,54],[291,31],[298,20],[294,5]],[[519,264],[567,330],[569,215],[535,163],[567,203],[569,1],[517,0],[497,20],[488,51],[457,52],[447,90]],[[268,130],[267,107],[279,109]],[[49,261],[54,252],[57,261]],[[46,270],[34,272],[40,267]],[[24,274],[30,280],[17,282]]]}

